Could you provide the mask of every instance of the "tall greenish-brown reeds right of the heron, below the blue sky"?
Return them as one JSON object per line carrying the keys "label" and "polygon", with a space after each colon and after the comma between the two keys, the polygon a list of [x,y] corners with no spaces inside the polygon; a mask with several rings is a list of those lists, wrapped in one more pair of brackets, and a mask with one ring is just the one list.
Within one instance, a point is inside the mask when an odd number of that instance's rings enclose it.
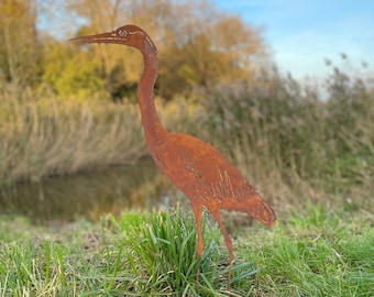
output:
{"label": "tall greenish-brown reeds right of the heron, below the blue sky", "polygon": [[274,200],[360,201],[374,191],[374,92],[336,69],[317,87],[276,72],[206,89],[196,133],[223,152]]}

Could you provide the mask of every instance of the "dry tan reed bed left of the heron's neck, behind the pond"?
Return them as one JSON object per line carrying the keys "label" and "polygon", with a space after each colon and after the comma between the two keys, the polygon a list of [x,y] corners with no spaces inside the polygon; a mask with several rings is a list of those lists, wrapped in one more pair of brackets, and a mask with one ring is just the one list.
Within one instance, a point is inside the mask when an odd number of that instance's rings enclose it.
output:
{"label": "dry tan reed bed left of the heron's neck, behind the pond", "polygon": [[6,98],[0,107],[0,180],[37,180],[146,153],[134,106]]}

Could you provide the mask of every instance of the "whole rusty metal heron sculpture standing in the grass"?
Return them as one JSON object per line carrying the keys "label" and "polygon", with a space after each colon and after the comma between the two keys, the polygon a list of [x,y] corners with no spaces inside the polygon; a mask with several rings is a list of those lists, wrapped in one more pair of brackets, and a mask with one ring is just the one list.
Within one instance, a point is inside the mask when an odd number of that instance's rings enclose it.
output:
{"label": "whole rusty metal heron sculpture standing in the grass", "polygon": [[188,197],[197,226],[197,256],[204,251],[201,216],[207,208],[217,220],[230,255],[228,284],[234,258],[232,242],[220,209],[243,211],[272,227],[276,219],[271,206],[245,180],[243,175],[208,143],[188,134],[167,132],[162,125],[153,100],[157,77],[157,50],[139,26],[124,25],[116,31],[73,38],[79,43],[116,43],[138,48],[144,59],[144,70],[138,86],[145,139],[158,168]]}

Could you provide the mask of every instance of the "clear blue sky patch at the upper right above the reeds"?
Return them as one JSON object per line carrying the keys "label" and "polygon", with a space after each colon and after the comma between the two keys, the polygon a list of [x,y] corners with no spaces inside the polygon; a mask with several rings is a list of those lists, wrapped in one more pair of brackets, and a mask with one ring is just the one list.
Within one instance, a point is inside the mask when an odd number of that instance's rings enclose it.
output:
{"label": "clear blue sky patch at the upper right above the reeds", "polygon": [[374,69],[372,0],[211,0],[218,9],[263,28],[263,37],[280,72],[301,79],[324,77],[324,58],[342,65],[340,53],[360,68]]}

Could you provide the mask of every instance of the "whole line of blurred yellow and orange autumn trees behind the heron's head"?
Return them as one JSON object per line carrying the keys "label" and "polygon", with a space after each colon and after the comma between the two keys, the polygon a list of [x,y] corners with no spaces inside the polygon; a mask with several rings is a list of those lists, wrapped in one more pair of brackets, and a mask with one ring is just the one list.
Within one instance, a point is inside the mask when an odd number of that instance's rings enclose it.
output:
{"label": "whole line of blurred yellow and orange autumn trees behind the heron's head", "polygon": [[[52,2],[54,10],[48,10]],[[72,36],[65,40],[37,28],[38,19],[56,14],[56,6],[72,20]],[[67,42],[125,23],[144,28],[156,43],[156,91],[165,99],[190,95],[200,86],[246,79],[268,62],[260,30],[206,1],[1,0],[0,81],[20,89],[47,88],[58,96],[131,98],[143,67],[136,51]]]}

